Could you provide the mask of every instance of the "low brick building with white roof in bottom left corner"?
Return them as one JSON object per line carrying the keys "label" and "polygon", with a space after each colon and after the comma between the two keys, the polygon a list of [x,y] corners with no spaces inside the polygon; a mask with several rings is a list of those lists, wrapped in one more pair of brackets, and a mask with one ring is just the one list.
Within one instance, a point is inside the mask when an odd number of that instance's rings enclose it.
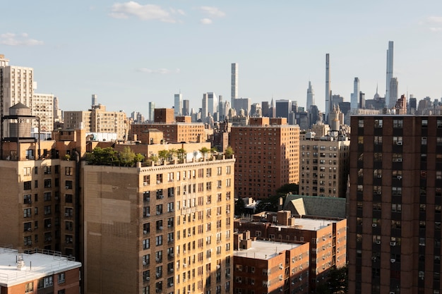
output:
{"label": "low brick building with white roof in bottom left corner", "polygon": [[80,293],[80,262],[50,250],[0,247],[1,293]]}

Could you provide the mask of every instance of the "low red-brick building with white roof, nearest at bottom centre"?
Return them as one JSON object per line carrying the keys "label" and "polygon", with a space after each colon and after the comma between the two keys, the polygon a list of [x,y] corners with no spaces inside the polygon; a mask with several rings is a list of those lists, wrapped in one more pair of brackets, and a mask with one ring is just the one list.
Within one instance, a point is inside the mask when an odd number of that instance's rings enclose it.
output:
{"label": "low red-brick building with white roof, nearest at bottom centre", "polygon": [[233,293],[309,293],[309,243],[234,237]]}

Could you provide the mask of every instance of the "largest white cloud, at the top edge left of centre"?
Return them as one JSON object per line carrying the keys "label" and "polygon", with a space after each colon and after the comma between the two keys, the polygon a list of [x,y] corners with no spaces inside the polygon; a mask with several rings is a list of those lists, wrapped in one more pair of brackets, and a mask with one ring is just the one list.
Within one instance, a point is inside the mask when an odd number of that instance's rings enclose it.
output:
{"label": "largest white cloud, at the top edge left of centre", "polygon": [[[154,4],[141,5],[135,1],[125,3],[116,3],[112,5],[112,12],[109,14],[112,18],[129,18],[136,16],[141,20],[160,20],[164,23],[176,23],[171,13]],[[173,11],[172,11],[173,13]]]}

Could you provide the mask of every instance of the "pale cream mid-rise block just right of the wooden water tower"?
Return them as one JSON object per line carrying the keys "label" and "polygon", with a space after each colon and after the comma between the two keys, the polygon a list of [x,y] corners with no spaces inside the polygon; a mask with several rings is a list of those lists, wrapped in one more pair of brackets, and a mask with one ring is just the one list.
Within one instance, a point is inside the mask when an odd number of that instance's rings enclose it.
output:
{"label": "pale cream mid-rise block just right of the wooden water tower", "polygon": [[[32,116],[40,118],[40,131],[50,133],[54,130],[54,95],[32,94]],[[32,122],[33,128],[38,128],[38,121]]]}

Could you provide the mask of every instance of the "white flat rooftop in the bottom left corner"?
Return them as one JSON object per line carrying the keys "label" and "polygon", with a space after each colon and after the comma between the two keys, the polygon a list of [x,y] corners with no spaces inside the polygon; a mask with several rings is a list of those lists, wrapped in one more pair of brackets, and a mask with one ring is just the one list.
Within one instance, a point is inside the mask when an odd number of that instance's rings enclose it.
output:
{"label": "white flat rooftop in the bottom left corner", "polygon": [[[0,247],[0,286],[11,287],[44,276],[58,274],[81,267],[71,257],[59,255],[48,250],[31,250],[30,254],[18,253],[18,250]],[[21,255],[25,268],[17,269],[17,259]]]}

